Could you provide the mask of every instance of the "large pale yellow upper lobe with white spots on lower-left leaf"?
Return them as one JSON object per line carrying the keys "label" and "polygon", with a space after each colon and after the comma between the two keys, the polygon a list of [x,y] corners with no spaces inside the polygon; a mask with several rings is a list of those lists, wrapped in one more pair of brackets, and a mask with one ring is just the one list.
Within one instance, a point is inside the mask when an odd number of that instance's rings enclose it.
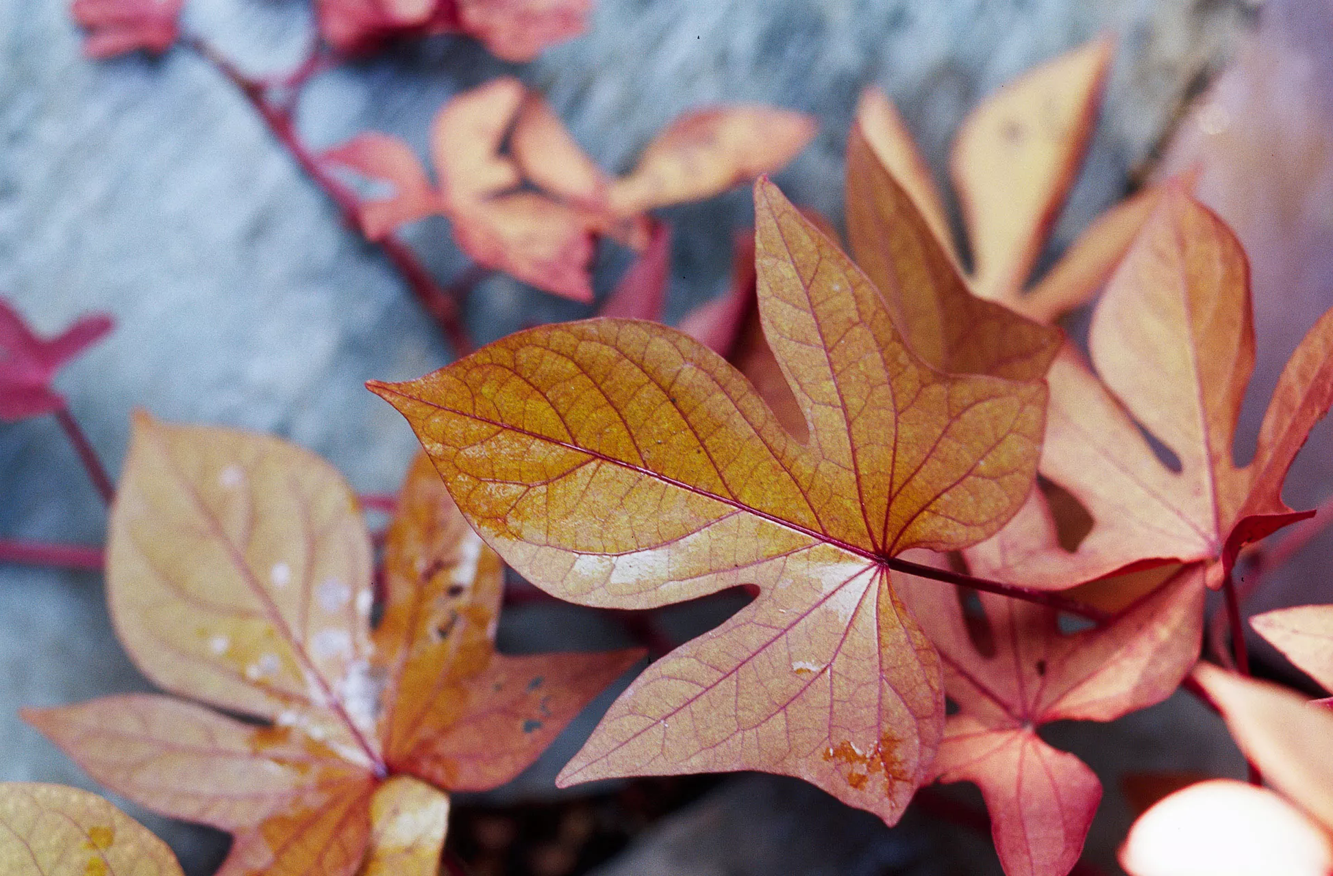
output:
{"label": "large pale yellow upper lobe with white spots on lower-left leaf", "polygon": [[165,690],[379,758],[371,542],[356,495],[276,438],[135,415],[111,511],[107,599]]}

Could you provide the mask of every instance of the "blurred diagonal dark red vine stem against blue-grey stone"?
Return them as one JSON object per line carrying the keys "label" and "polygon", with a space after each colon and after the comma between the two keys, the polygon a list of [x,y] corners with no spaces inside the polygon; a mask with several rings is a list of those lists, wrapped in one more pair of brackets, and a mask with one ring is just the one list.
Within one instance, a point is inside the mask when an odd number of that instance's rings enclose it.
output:
{"label": "blurred diagonal dark red vine stem against blue-grey stone", "polygon": [[[273,84],[253,79],[243,73],[227,57],[219,53],[212,45],[196,35],[185,35],[181,44],[212,64],[237,91],[249,101],[255,112],[268,126],[269,133],[291,153],[297,165],[311,177],[311,180],[324,190],[333,201],[343,221],[348,226],[361,229],[360,209],[356,193],[331,174],[305,141],[301,140],[292,118],[293,100],[275,101],[269,97]],[[321,69],[323,56],[316,49],[309,59],[291,76],[283,79],[277,85],[287,91],[300,89],[319,69]],[[455,354],[467,355],[475,349],[472,338],[468,335],[459,313],[459,300],[465,296],[481,278],[489,274],[477,266],[465,270],[449,290],[443,289],[427,270],[421,260],[408,244],[397,234],[389,234],[383,240],[371,241],[388,257],[393,266],[407,281],[408,289],[420,302],[421,308],[440,326]]]}

